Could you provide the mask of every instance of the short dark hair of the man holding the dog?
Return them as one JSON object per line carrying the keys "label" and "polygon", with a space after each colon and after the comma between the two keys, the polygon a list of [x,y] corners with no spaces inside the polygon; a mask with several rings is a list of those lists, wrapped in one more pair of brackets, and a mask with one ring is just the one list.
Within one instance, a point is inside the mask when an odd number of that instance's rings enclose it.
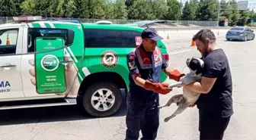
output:
{"label": "short dark hair of the man holding the dog", "polygon": [[216,42],[216,36],[212,30],[203,29],[197,32],[193,37],[193,41],[200,40],[201,42],[206,42],[206,39],[210,39],[211,43]]}

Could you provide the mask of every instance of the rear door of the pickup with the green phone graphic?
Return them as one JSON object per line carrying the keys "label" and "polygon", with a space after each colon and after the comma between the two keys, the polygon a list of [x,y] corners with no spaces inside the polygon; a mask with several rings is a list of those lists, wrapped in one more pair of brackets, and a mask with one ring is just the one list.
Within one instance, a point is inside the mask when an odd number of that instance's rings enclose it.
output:
{"label": "rear door of the pickup with the green phone graphic", "polygon": [[[63,29],[30,26],[24,28],[24,36],[27,36],[27,39],[24,40],[27,42],[24,43],[21,61],[24,95],[26,98],[65,97],[72,86],[72,82],[75,81],[77,73],[76,70],[76,73],[69,73],[69,70],[65,70],[69,64],[74,63],[72,59],[67,59],[67,48],[64,47],[68,32]],[[63,46],[58,45],[56,48],[56,43],[53,45],[53,42],[49,42],[42,45],[38,42],[38,39],[50,38],[63,39]],[[42,47],[46,49],[43,50]],[[69,84],[70,82],[71,84]]]}

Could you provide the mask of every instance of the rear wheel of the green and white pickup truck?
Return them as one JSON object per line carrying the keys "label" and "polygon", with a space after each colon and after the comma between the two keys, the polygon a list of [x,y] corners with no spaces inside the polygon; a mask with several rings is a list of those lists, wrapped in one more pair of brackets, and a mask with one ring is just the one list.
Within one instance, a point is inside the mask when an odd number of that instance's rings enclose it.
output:
{"label": "rear wheel of the green and white pickup truck", "polygon": [[[112,92],[112,94],[108,97],[100,98],[100,94],[98,92],[99,90],[104,91],[104,95],[107,94],[107,91]],[[93,95],[95,97],[95,100],[91,102],[91,98],[93,97]],[[97,98],[98,100],[96,100]],[[112,103],[112,105],[108,102],[111,98],[114,98],[114,102]],[[102,103],[100,106],[97,107],[100,107],[101,110],[97,110],[94,108],[94,106],[98,103]],[[115,114],[117,110],[120,109],[122,104],[122,94],[120,89],[113,82],[94,82],[94,84],[89,86],[88,89],[85,91],[82,104],[85,111],[91,116],[108,117]],[[103,104],[106,104],[109,107],[108,110],[104,110]]]}

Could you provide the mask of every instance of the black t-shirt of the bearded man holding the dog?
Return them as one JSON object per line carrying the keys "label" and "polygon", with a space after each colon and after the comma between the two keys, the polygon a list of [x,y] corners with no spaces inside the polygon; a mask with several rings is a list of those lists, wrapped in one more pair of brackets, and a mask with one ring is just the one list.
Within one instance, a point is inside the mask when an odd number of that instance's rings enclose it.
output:
{"label": "black t-shirt of the bearded man holding the dog", "polygon": [[202,76],[217,78],[213,89],[208,94],[201,94],[197,107],[206,114],[216,117],[230,117],[232,107],[232,76],[229,61],[224,51],[219,48],[203,56]]}

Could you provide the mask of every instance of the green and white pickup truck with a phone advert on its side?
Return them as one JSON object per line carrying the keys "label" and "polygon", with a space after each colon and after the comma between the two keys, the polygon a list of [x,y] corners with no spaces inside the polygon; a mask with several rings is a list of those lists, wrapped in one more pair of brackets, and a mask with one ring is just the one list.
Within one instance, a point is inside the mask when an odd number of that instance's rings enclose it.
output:
{"label": "green and white pickup truck with a phone advert on its side", "polygon": [[94,117],[115,114],[129,91],[126,54],[143,28],[35,18],[0,25],[0,110],[82,104]]}

